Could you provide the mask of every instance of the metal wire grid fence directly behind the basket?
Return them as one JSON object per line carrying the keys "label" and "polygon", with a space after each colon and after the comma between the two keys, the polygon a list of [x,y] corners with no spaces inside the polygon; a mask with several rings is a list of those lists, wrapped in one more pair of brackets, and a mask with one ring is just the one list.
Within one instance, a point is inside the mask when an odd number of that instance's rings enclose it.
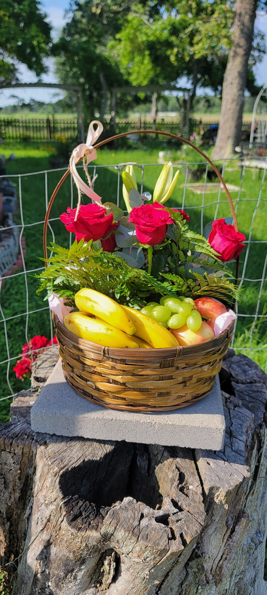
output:
{"label": "metal wire grid fence directly behind the basket", "polygon": [[[162,165],[135,164],[137,181],[141,192],[152,192]],[[196,164],[174,163],[180,168],[181,183],[177,184],[170,199],[170,206],[182,208],[190,215],[190,225],[199,233],[217,218],[229,217],[228,201],[217,179],[209,180],[208,165],[204,164],[204,176],[196,178]],[[201,164],[203,167],[203,163]],[[240,286],[245,286],[243,297],[236,305],[237,321],[232,346],[245,353],[267,369],[267,238],[264,233],[267,203],[267,158],[262,161],[225,160],[222,176],[228,184],[239,221],[239,229],[246,234],[246,248],[241,253]],[[93,165],[89,167],[92,177],[98,176],[96,190],[103,202],[117,202],[123,206],[122,165]],[[53,337],[53,324],[47,301],[36,296],[37,280],[34,274],[43,270],[42,231],[47,204],[52,191],[62,176],[63,169],[36,171],[8,176],[15,184],[18,210],[15,225],[0,228],[0,378],[1,400],[8,399],[24,386],[15,379],[13,367],[20,359],[23,343],[28,343],[34,334]],[[218,182],[218,183],[217,183]],[[85,197],[84,197],[85,198]],[[48,240],[70,246],[71,237],[59,215],[67,206],[74,208],[77,202],[76,189],[71,176],[65,181],[56,197],[49,221]],[[86,202],[86,201],[85,201]],[[174,205],[175,202],[175,205]],[[10,223],[10,222],[9,222]],[[20,270],[12,265],[5,270],[4,252],[10,237],[18,240]]]}

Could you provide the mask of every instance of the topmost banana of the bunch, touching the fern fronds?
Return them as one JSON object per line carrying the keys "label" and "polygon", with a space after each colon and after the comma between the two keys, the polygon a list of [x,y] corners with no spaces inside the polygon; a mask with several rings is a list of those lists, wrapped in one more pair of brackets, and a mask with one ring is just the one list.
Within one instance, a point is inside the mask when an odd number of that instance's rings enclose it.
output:
{"label": "topmost banana of the bunch, touching the fern fronds", "polygon": [[122,306],[111,297],[104,296],[94,289],[84,288],[75,295],[75,304],[84,314],[94,314],[125,333],[135,334],[136,328],[128,312],[125,312]]}

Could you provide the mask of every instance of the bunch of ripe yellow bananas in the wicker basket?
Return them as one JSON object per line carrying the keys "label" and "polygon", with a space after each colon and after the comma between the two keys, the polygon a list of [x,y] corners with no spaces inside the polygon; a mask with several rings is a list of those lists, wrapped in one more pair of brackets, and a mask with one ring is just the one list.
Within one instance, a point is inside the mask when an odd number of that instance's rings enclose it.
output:
{"label": "bunch of ripe yellow bananas in the wicker basket", "polygon": [[81,339],[122,349],[178,345],[173,334],[152,318],[128,306],[120,306],[111,297],[93,289],[80,289],[75,295],[75,304],[80,312],[67,314],[64,325]]}

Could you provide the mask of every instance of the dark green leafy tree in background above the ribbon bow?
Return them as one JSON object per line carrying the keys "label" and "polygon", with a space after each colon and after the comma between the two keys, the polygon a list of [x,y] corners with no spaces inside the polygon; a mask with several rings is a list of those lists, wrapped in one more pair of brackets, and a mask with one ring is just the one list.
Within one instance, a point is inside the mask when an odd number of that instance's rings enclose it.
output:
{"label": "dark green leafy tree in background above the ribbon bow", "polygon": [[119,65],[107,46],[130,10],[124,0],[76,0],[58,42],[53,46],[59,82],[81,84],[85,115],[103,118],[109,89],[123,83]]}

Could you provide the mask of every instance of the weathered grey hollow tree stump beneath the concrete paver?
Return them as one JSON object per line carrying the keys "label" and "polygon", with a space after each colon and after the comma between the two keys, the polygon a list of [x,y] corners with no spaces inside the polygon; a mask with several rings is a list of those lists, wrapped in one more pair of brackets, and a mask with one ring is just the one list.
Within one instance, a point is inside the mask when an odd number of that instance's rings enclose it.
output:
{"label": "weathered grey hollow tree stump beneath the concrete paver", "polygon": [[267,377],[227,356],[220,452],[34,434],[18,395],[0,427],[13,595],[266,595]]}

